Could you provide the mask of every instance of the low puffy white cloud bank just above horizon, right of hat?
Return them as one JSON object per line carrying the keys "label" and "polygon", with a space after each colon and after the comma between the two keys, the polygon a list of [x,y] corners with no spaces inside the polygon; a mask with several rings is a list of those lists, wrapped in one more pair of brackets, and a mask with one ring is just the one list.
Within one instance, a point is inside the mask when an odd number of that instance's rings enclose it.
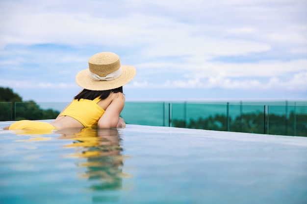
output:
{"label": "low puffy white cloud bank just above horizon, right of hat", "polygon": [[266,79],[246,79],[227,77],[225,72],[220,72],[216,76],[209,78],[187,78],[185,80],[167,79],[164,83],[154,83],[149,81],[135,81],[127,85],[128,88],[171,88],[171,89],[216,89],[225,90],[306,90],[307,89],[307,71],[293,75],[287,80],[279,77],[270,77]]}

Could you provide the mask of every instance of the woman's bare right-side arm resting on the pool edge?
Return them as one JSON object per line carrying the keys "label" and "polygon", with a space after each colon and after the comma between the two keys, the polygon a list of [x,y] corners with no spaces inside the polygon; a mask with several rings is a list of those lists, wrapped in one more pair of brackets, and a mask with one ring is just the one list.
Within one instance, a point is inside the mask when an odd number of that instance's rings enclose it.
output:
{"label": "woman's bare right-side arm resting on the pool edge", "polygon": [[120,120],[120,113],[125,105],[125,96],[119,94],[111,104],[106,108],[102,117],[98,121],[98,128],[117,128]]}

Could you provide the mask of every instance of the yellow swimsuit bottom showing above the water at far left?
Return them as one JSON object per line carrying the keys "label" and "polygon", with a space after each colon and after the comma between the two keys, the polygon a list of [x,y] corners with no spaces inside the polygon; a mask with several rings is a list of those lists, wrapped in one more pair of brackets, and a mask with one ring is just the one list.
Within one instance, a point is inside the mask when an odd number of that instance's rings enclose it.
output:
{"label": "yellow swimsuit bottom showing above the water at far left", "polygon": [[55,130],[55,127],[47,122],[33,120],[19,120],[8,128],[9,130]]}

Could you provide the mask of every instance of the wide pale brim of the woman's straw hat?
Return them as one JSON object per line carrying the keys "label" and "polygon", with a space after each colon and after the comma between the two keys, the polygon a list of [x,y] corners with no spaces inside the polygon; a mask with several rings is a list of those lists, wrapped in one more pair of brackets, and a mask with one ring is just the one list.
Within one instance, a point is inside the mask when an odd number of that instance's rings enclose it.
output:
{"label": "wide pale brim of the woman's straw hat", "polygon": [[136,69],[132,66],[122,65],[122,74],[116,79],[110,81],[95,81],[90,77],[89,69],[84,69],[77,73],[76,82],[83,89],[92,91],[112,90],[128,84],[135,74]]}

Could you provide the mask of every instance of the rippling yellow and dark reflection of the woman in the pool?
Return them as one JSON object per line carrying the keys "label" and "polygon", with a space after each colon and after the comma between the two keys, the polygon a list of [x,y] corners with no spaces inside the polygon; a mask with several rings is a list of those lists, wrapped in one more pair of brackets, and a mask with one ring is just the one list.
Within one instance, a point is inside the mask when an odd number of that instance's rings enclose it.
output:
{"label": "rippling yellow and dark reflection of the woman in the pool", "polygon": [[62,134],[61,139],[74,140],[65,147],[76,148],[76,154],[71,156],[82,159],[77,165],[86,171],[80,177],[91,181],[91,190],[122,188],[122,178],[129,175],[122,172],[121,138],[117,129],[67,129],[57,134]]}

